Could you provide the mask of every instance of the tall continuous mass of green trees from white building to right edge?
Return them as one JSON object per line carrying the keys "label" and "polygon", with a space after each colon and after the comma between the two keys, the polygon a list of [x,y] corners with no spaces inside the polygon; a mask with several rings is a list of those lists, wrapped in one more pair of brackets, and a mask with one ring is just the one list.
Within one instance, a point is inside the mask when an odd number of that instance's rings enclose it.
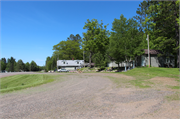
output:
{"label": "tall continuous mass of green trees from white building to right edge", "polygon": [[111,32],[107,25],[97,19],[87,20],[83,38],[71,34],[65,41],[53,46],[52,57],[46,59],[46,69],[56,69],[58,59],[83,59],[103,68],[110,61],[137,61],[147,49],[149,35],[150,49],[161,50],[158,56],[175,56],[179,66],[179,1],[144,0],[139,4],[137,15],[130,19],[120,15],[114,19]]}

